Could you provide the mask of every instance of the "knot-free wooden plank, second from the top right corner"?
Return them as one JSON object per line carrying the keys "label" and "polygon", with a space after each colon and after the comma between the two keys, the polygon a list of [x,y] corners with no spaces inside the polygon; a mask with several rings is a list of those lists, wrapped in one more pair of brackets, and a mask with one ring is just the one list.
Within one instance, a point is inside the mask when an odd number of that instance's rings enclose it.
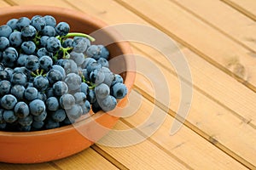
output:
{"label": "knot-free wooden plank, second from the top right corner", "polygon": [[237,43],[241,43],[252,54],[255,53],[256,25],[254,20],[220,1],[206,0],[191,3],[189,0],[172,0],[172,2],[182,6],[190,14],[195,15]]}

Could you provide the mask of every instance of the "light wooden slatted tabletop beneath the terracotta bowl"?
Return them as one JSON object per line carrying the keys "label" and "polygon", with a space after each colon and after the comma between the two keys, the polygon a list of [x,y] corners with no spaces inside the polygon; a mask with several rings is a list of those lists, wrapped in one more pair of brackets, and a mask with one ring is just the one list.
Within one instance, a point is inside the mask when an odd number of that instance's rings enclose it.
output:
{"label": "light wooden slatted tabletop beneath the terracotta bowl", "polygon": [[[159,51],[132,42],[133,52],[146,56],[165,76],[171,105],[154,100],[154,88],[160,87],[149,82],[157,83],[158,77],[148,80],[137,74],[132,94],[141,105],[132,116],[120,118],[115,128],[136,129],[155,108],[166,117],[153,135],[127,147],[94,144],[59,161],[0,163],[0,169],[256,169],[255,0],[0,1],[2,8],[31,4],[72,8],[109,25],[154,26],[177,42],[187,59],[193,98],[183,127],[171,135],[175,117],[183,122],[176,116],[181,99],[179,73]],[[176,54],[173,50],[172,55]],[[154,75],[147,64],[144,68]]]}

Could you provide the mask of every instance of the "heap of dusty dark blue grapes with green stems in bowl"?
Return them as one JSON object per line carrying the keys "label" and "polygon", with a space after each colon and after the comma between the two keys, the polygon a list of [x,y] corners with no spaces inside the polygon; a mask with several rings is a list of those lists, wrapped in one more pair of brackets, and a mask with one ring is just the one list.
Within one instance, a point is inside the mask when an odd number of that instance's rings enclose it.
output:
{"label": "heap of dusty dark blue grapes with green stems in bowl", "polygon": [[38,131],[112,111],[127,94],[108,48],[51,15],[0,26],[0,130]]}

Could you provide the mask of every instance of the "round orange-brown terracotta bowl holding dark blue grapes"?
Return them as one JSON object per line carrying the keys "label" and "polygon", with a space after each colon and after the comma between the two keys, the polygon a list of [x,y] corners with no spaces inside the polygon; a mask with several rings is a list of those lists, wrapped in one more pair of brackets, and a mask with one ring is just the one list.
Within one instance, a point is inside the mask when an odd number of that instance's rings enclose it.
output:
{"label": "round orange-brown terracotta bowl holding dark blue grapes", "polygon": [[[107,26],[101,20],[78,11],[45,6],[1,8],[0,25],[5,24],[12,18],[18,19],[22,16],[31,18],[36,14],[52,15],[57,22],[66,21],[70,25],[71,31],[79,31],[87,34]],[[114,42],[107,47],[110,51],[110,58],[131,54],[129,43],[116,42],[118,37],[119,35],[115,31],[102,31],[101,34],[96,35],[96,43]],[[119,67],[125,68],[126,70],[121,75],[125,80],[125,85],[129,92],[135,79],[135,73],[131,71],[134,65],[135,62],[131,55],[119,59]],[[125,100],[119,100],[118,106],[124,106]],[[71,156],[90,147],[91,144],[94,144],[98,139],[101,139],[108,133],[109,129],[119,119],[118,116],[113,116],[114,114],[119,115],[118,111],[117,113],[113,111],[111,115],[99,111],[90,116],[90,118],[74,123],[74,125],[43,131],[27,133],[0,131],[0,161],[10,163],[38,163]]]}

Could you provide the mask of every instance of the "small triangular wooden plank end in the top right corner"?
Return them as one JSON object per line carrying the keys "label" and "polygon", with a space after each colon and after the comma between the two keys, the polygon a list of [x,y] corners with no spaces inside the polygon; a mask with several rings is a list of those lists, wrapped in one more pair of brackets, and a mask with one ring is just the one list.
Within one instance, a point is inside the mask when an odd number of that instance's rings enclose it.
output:
{"label": "small triangular wooden plank end in the top right corner", "polygon": [[224,3],[229,4],[231,7],[236,8],[242,14],[245,14],[247,17],[252,20],[256,20],[256,4],[253,0],[221,0]]}

